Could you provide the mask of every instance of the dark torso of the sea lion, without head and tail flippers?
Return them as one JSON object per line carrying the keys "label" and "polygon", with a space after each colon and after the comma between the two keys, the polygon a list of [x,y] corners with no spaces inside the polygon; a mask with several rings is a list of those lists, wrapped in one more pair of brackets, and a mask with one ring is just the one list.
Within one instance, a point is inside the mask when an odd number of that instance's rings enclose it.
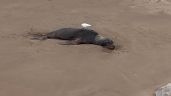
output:
{"label": "dark torso of the sea lion, without head and tail flippers", "polygon": [[48,39],[78,40],[80,44],[93,44],[97,32],[87,29],[62,28],[47,34]]}

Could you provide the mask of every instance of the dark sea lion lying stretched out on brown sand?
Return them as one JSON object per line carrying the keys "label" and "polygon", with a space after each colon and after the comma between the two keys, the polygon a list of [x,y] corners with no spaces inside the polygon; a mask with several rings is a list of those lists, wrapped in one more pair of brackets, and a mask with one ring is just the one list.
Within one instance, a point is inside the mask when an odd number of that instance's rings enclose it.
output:
{"label": "dark sea lion lying stretched out on brown sand", "polygon": [[115,49],[111,39],[101,36],[94,30],[85,28],[62,28],[47,34],[34,34],[33,39],[61,39],[68,40],[63,45],[95,44],[110,50]]}

